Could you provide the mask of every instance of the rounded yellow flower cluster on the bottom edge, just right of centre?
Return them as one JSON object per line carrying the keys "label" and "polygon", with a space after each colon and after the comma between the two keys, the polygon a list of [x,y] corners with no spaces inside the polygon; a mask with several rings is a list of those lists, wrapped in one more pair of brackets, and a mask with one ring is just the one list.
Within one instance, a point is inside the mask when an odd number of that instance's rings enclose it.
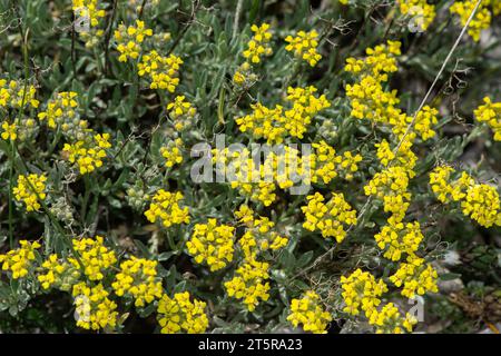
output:
{"label": "rounded yellow flower cluster on the bottom edge, just right of centre", "polygon": [[328,323],[332,322],[332,316],[324,312],[320,301],[320,296],[312,290],[306,291],[301,299],[292,299],[287,320],[294,327],[302,324],[305,332],[325,334]]}

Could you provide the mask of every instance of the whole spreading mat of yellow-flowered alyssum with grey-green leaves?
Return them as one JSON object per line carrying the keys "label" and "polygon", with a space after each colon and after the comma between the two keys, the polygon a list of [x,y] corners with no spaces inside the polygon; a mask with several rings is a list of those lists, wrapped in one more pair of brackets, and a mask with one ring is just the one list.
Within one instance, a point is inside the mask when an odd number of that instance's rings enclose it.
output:
{"label": "whole spreading mat of yellow-flowered alyssum with grey-green leaves", "polygon": [[[498,1],[390,1],[379,37],[361,29],[347,44],[347,24],[307,12],[291,28],[253,14],[239,31],[242,13],[199,1],[3,2],[2,43],[20,59],[3,53],[0,78],[0,310],[12,317],[57,298],[60,318],[107,333],[411,333],[422,320],[407,299],[439,291],[436,221],[501,226],[499,187],[451,165],[482,134],[499,148],[501,102],[485,92],[454,138],[436,102],[393,88],[415,53],[399,22],[419,16],[425,39],[452,16],[468,47]],[[338,2],[332,19],[370,21],[362,1]],[[214,148],[217,134],[244,148]],[[232,179],[190,179],[200,142]],[[285,149],[256,164],[252,144]],[[292,194],[293,175],[310,191]]]}

